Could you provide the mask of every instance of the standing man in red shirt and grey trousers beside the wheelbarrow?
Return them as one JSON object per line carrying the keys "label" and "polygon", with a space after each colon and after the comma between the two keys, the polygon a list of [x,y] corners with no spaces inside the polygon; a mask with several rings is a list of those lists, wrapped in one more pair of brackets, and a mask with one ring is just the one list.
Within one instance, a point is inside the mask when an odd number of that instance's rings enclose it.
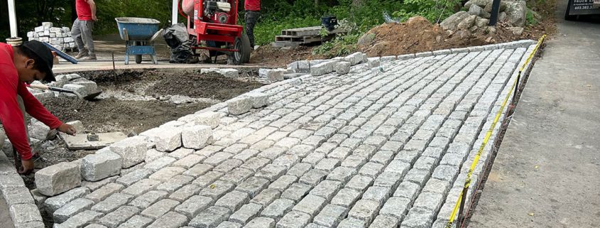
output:
{"label": "standing man in red shirt and grey trousers beside the wheelbarrow", "polygon": [[94,40],[92,39],[94,21],[98,20],[96,18],[96,3],[94,0],[75,0],[75,10],[77,11],[77,19],[75,19],[71,28],[71,36],[77,44],[77,50],[79,50],[79,54],[75,58],[77,60],[96,60]]}

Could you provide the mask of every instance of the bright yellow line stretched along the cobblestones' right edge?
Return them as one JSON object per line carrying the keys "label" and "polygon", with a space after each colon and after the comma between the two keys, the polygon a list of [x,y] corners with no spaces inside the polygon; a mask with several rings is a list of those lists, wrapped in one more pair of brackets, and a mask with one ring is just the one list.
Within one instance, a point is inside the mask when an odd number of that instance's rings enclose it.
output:
{"label": "bright yellow line stretched along the cobblestones' right edge", "polygon": [[[538,44],[535,45],[535,48],[533,48],[533,51],[531,52],[531,54],[529,55],[529,57],[525,60],[525,63],[523,64],[523,66],[520,67],[518,74],[520,75],[521,72],[523,72],[523,69],[525,69],[525,66],[528,65],[528,63],[530,62],[530,60],[533,58],[533,56],[535,55],[535,53],[538,52],[538,48],[540,48],[540,45],[542,44],[543,40],[546,38],[546,35],[542,36],[540,38],[540,40],[538,40]],[[496,117],[493,119],[493,122],[489,128],[489,130],[486,133],[486,136],[484,138],[483,143],[481,143],[481,146],[479,146],[479,150],[477,151],[477,153],[475,154],[475,158],[473,160],[473,163],[471,163],[471,167],[469,168],[469,173],[467,173],[467,178],[464,181],[464,188],[469,188],[469,185],[471,185],[471,175],[473,175],[473,171],[475,170],[475,167],[477,165],[477,163],[479,163],[479,158],[481,157],[481,153],[484,152],[484,148],[486,147],[491,134],[493,132],[493,129],[496,127],[496,124],[498,124],[498,120],[500,119],[500,116],[502,116],[502,111],[504,110],[504,107],[506,107],[506,103],[508,103],[508,99],[511,97],[511,94],[513,94],[513,89],[515,89],[515,86],[517,85],[517,80],[519,77],[517,77],[517,79],[515,79],[515,81],[513,82],[513,86],[511,87],[511,89],[508,91],[508,94],[506,94],[506,97],[504,98],[500,109],[498,109],[498,112],[496,113]],[[458,197],[457,203],[456,205],[454,205],[454,210],[452,210],[452,214],[450,214],[450,217],[448,219],[448,222],[446,224],[446,228],[451,228],[452,224],[454,223],[454,217],[456,217],[459,207],[460,207],[460,202],[462,200],[462,194],[464,193],[464,191],[460,192],[460,195]]]}

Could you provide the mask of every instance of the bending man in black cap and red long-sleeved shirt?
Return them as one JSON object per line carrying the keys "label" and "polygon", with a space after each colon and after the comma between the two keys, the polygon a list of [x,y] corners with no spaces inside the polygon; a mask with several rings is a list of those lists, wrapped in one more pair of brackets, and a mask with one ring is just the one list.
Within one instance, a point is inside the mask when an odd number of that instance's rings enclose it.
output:
{"label": "bending man in black cap and red long-sleeved shirt", "polygon": [[28,143],[23,113],[19,109],[18,97],[23,101],[25,111],[43,122],[50,129],[75,135],[76,130],[63,124],[33,97],[26,87],[34,80],[54,81],[52,72],[53,56],[43,43],[37,40],[22,45],[11,46],[0,43],[0,121],[13,149],[21,156],[18,173],[26,174],[33,170],[33,153]]}

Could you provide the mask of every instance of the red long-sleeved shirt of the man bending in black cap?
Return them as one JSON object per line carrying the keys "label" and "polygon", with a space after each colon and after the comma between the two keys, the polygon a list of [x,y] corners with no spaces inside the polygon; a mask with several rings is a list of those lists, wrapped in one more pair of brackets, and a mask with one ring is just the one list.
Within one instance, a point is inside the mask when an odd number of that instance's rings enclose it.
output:
{"label": "red long-sleeved shirt of the man bending in black cap", "polygon": [[[6,136],[21,155],[23,160],[31,159],[31,148],[25,132],[25,120],[18,108],[16,95],[23,98],[26,112],[33,118],[56,129],[62,124],[27,90],[24,82],[18,80],[18,73],[13,63],[13,47],[0,43],[0,120]],[[4,151],[5,153],[8,151]]]}

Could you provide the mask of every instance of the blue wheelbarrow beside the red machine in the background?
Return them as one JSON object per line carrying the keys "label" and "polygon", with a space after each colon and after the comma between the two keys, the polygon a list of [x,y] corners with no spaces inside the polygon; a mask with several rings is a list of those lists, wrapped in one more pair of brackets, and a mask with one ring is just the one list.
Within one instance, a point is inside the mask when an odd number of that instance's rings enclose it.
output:
{"label": "blue wheelbarrow beside the red machine in the background", "polygon": [[129,55],[136,56],[136,63],[142,62],[142,55],[150,55],[152,62],[156,60],[154,40],[163,29],[158,30],[160,21],[151,18],[114,18],[119,27],[119,35],[125,40],[125,65],[129,64]]}

